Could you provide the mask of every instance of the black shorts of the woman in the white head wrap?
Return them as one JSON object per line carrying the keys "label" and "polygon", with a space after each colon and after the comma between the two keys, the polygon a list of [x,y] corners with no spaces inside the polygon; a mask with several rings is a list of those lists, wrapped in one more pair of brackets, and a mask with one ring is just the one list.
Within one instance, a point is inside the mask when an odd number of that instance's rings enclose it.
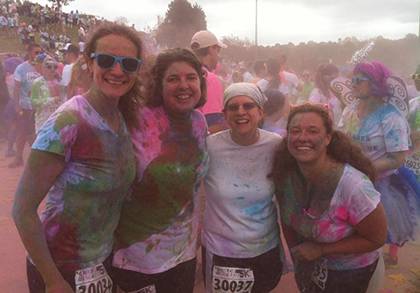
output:
{"label": "black shorts of the woman in the white head wrap", "polygon": [[[239,289],[245,290],[247,286],[252,287],[252,290],[249,291],[250,293],[270,292],[277,286],[282,275],[283,263],[281,260],[281,253],[280,246],[277,246],[256,257],[230,258],[211,254],[207,255],[206,249],[202,247],[202,269],[205,284],[207,283],[206,280],[211,282],[209,285],[213,286],[218,292],[223,292],[223,290],[225,290],[225,292],[235,292],[239,291]],[[208,259],[209,257],[212,257],[212,259]],[[206,268],[206,265],[210,263],[211,266]],[[214,278],[213,273],[215,267],[249,269],[254,276],[253,284],[251,285],[251,281],[247,281],[246,279],[222,280]],[[239,274],[246,274],[243,270],[236,271],[241,271]]]}

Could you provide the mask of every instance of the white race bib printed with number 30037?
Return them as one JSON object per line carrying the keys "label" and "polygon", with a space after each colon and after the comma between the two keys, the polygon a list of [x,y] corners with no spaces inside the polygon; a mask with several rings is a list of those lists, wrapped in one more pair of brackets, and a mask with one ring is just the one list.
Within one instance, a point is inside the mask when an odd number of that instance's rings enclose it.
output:
{"label": "white race bib printed with number 30037", "polygon": [[251,269],[213,267],[214,293],[250,293],[254,285],[254,273]]}

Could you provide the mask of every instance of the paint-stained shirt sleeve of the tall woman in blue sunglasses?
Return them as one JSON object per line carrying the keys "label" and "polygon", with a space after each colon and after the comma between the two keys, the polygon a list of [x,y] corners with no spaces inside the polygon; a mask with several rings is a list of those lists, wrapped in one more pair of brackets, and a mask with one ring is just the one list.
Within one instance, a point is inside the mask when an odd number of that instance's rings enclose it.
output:
{"label": "paint-stained shirt sleeve of the tall woman in blue sunglasses", "polygon": [[74,111],[55,112],[39,130],[32,149],[64,156],[68,162],[77,132],[78,116]]}

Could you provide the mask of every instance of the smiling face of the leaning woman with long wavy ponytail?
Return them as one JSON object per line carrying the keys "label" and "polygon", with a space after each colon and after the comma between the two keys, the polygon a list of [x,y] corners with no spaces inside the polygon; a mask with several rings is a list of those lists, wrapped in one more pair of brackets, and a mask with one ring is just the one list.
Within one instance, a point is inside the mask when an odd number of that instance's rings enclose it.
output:
{"label": "smiling face of the leaning woman with long wavy ponytail", "polygon": [[288,125],[287,148],[298,163],[311,163],[327,153],[331,135],[316,113],[296,114]]}

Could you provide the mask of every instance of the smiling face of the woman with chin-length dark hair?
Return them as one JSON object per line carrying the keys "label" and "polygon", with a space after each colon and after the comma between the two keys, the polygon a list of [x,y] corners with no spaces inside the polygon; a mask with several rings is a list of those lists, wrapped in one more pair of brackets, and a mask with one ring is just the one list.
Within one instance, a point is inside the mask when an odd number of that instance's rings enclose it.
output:
{"label": "smiling face of the woman with chin-length dark hair", "polygon": [[162,96],[168,112],[191,112],[201,97],[200,78],[194,67],[183,61],[172,63],[163,76]]}

